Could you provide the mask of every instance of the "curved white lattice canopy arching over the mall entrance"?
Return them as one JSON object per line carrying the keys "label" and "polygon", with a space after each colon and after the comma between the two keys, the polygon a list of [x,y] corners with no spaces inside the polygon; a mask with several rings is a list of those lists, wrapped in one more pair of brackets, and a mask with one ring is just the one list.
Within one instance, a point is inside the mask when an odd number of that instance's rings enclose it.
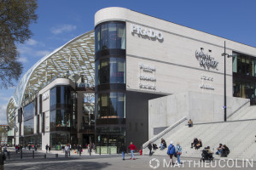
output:
{"label": "curved white lattice canopy arching over the mall entrance", "polygon": [[94,44],[94,31],[86,32],[44,56],[26,71],[15,89],[14,96],[9,100],[7,108],[9,125],[13,124],[11,122],[14,119],[15,109],[20,108],[26,98],[37,94],[56,77],[69,77],[73,82],[77,82],[79,77],[84,77],[84,82],[94,87]]}

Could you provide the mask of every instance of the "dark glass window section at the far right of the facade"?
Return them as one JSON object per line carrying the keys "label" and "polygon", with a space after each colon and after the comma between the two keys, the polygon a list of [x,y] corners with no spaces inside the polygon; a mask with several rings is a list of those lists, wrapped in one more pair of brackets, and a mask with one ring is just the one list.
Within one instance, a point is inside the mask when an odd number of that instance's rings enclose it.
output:
{"label": "dark glass window section at the far right of the facade", "polygon": [[256,59],[233,52],[233,96],[251,100],[256,105]]}

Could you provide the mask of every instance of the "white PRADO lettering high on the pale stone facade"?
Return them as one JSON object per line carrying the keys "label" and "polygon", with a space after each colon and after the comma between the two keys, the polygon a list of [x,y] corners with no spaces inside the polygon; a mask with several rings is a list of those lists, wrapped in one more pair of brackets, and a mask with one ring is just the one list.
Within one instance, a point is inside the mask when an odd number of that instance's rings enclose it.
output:
{"label": "white PRADO lettering high on the pale stone facade", "polygon": [[149,28],[144,28],[143,26],[137,26],[131,24],[131,33],[137,33],[138,35],[148,36],[148,37],[156,37],[157,39],[163,39],[163,34],[161,31],[156,31]]}

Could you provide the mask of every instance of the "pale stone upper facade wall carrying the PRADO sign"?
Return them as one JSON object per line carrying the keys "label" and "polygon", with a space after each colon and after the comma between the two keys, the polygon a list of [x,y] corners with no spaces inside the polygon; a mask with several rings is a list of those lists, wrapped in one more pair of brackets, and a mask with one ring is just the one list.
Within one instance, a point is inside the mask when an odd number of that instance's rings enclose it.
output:
{"label": "pale stone upper facade wall carrying the PRADO sign", "polygon": [[[177,94],[187,91],[203,94],[224,93],[224,41],[226,53],[232,51],[256,56],[256,48],[213,36],[203,31],[160,20],[127,8],[103,8],[95,15],[95,25],[108,20],[126,22],[126,89],[141,92]],[[162,32],[163,39],[143,37],[131,31],[131,26]],[[204,68],[195,57],[195,51],[204,48],[216,61],[216,68]],[[211,50],[211,52],[209,52]],[[232,59],[226,59],[227,96],[232,96]],[[140,69],[139,65],[155,68],[153,74]],[[156,82],[142,81],[140,76],[156,78]],[[212,77],[212,81],[201,77]],[[155,90],[140,88],[139,84],[154,85]],[[202,84],[214,87],[204,89]]]}

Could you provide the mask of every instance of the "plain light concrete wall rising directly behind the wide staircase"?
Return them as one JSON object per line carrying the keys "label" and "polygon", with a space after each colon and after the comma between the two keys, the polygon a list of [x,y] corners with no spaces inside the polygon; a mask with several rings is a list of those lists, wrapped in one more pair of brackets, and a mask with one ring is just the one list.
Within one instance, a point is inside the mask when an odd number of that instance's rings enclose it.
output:
{"label": "plain light concrete wall rising directly behind the wide staircase", "polygon": [[[227,98],[227,116],[249,99]],[[183,116],[194,123],[224,121],[224,96],[185,92],[148,101],[148,139],[154,137],[154,127],[169,127]],[[248,105],[245,106],[245,108]],[[243,108],[244,109],[244,108]],[[185,123],[184,123],[185,124]]]}

